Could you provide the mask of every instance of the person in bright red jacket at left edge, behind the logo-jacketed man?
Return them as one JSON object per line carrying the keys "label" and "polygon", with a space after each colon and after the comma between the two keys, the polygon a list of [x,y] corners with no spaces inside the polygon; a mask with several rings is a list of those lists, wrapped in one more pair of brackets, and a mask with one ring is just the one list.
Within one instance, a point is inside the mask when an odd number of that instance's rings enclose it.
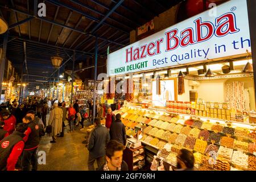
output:
{"label": "person in bright red jacket at left edge, behind the logo-jacketed man", "polygon": [[9,110],[2,110],[1,115],[3,118],[3,122],[5,122],[3,130],[7,131],[9,135],[12,134],[15,130],[16,118],[14,117],[14,115],[10,114]]}

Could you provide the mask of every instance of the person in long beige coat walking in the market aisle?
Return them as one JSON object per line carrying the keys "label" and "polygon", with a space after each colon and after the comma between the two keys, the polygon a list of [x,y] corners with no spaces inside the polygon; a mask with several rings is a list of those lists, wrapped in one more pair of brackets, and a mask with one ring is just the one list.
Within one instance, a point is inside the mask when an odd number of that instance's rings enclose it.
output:
{"label": "person in long beige coat walking in the market aisle", "polygon": [[48,120],[48,125],[52,126],[51,143],[56,143],[57,134],[60,134],[62,131],[62,118],[63,111],[58,107],[58,101],[55,101]]}

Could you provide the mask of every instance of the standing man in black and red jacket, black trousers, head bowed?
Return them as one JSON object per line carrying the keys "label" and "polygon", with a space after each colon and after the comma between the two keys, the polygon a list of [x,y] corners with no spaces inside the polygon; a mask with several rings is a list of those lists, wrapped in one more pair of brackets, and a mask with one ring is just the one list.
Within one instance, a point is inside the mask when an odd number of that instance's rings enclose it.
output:
{"label": "standing man in black and red jacket, black trousers, head bowed", "polygon": [[38,169],[38,155],[36,154],[36,150],[40,142],[39,125],[28,116],[24,117],[22,120],[23,123],[28,125],[25,137],[23,138],[26,143],[22,155],[22,170],[29,171],[31,163],[32,171],[36,171]]}

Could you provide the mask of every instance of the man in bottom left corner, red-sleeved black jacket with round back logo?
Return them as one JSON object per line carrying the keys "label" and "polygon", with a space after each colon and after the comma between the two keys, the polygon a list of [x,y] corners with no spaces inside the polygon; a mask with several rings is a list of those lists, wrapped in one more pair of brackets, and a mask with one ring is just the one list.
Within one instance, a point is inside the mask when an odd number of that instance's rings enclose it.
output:
{"label": "man in bottom left corner, red-sleeved black jacket with round back logo", "polygon": [[0,142],[0,171],[14,171],[15,165],[24,148],[24,132],[27,124],[19,123],[13,134]]}

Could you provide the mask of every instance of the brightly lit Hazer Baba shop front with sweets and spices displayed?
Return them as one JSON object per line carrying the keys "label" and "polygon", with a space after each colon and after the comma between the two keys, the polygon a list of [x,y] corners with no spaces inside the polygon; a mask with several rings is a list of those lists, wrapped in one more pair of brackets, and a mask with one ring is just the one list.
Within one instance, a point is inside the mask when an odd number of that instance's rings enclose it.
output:
{"label": "brightly lit Hazer Baba shop front with sweets and spices displayed", "polygon": [[256,170],[252,64],[247,5],[237,0],[110,53],[108,76],[125,83],[115,114],[135,138],[129,169],[155,155],[168,170],[186,148],[199,170]]}

